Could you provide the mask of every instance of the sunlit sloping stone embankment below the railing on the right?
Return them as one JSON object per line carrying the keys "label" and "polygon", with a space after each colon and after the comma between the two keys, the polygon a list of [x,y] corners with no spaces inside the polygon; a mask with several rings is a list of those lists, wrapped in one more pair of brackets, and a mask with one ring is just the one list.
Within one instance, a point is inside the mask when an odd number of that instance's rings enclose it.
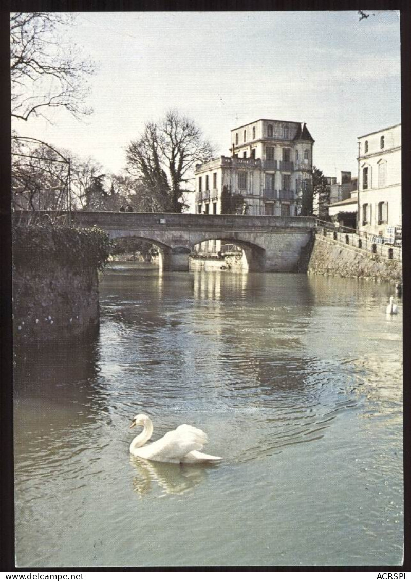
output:
{"label": "sunlit sloping stone embankment below the railing on the right", "polygon": [[307,270],[313,274],[359,277],[392,283],[402,279],[401,261],[390,260],[354,246],[345,246],[339,241],[318,234],[313,242]]}

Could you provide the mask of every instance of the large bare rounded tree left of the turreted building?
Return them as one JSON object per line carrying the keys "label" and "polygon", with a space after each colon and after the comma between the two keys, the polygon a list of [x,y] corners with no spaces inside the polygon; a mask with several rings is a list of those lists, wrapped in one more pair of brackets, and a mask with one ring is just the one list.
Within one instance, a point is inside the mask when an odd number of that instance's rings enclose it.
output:
{"label": "large bare rounded tree left of the turreted building", "polygon": [[213,153],[194,121],[171,109],[158,123],[147,123],[140,138],[128,145],[127,168],[140,178],[154,206],[181,212],[190,171]]}

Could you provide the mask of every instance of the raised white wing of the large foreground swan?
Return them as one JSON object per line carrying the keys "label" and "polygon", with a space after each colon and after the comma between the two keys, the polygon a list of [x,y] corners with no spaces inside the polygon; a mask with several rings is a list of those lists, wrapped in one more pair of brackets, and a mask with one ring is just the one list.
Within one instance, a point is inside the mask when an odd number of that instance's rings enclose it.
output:
{"label": "raised white wing of the large foreground swan", "polygon": [[187,424],[178,426],[175,430],[167,432],[165,436],[143,447],[146,458],[152,460],[180,460],[193,450],[202,450],[207,443],[207,435],[203,430]]}

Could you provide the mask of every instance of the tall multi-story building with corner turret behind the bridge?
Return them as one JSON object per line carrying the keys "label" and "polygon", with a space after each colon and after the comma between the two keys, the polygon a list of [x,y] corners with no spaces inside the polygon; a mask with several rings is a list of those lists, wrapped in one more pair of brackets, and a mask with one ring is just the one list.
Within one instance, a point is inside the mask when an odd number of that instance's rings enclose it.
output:
{"label": "tall multi-story building with corner turret behind the bridge", "polygon": [[254,216],[295,216],[311,185],[312,146],[307,126],[259,119],[231,131],[231,157],[197,164],[196,213],[220,214],[226,187]]}

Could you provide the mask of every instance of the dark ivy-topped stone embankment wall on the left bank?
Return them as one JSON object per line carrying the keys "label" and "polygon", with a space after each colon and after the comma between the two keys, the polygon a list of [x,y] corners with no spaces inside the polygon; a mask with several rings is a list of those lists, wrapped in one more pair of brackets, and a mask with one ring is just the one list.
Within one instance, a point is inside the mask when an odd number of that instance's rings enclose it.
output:
{"label": "dark ivy-topped stone embankment wall on the left bank", "polygon": [[104,232],[68,227],[13,229],[15,342],[78,339],[99,326],[98,271]]}

